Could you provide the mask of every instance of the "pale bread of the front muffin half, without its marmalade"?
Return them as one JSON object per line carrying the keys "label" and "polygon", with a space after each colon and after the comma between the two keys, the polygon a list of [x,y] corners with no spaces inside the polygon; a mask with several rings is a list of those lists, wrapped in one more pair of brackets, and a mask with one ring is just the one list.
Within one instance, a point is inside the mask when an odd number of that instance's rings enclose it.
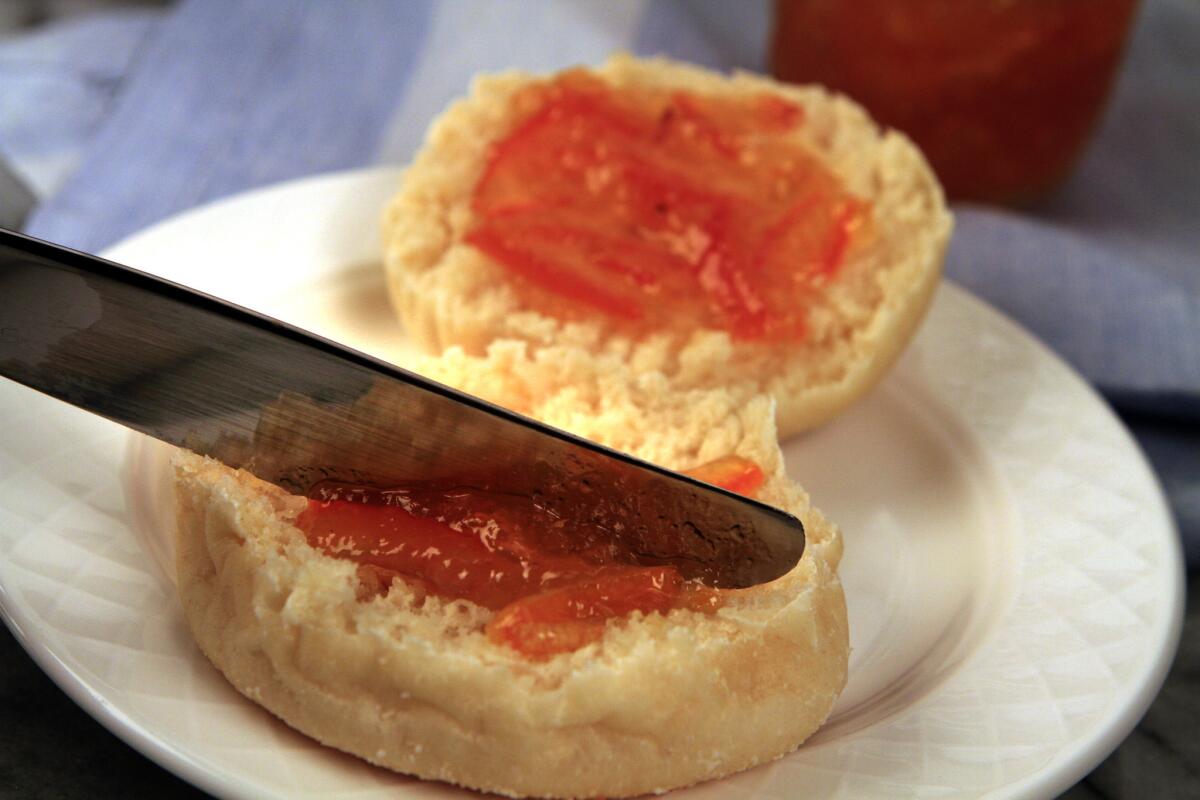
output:
{"label": "pale bread of the front muffin half, without its marmalade", "polygon": [[611,616],[595,636],[529,654],[490,636],[503,612],[488,604],[365,577],[306,535],[306,499],[181,455],[185,615],[241,693],[371,763],[514,796],[666,790],[778,758],[817,729],[846,680],[841,540],[786,477],[770,398],[670,391],[613,357],[512,342],[419,368],[673,469],[752,463],[761,476],[743,486],[761,479],[760,499],[804,521],[805,555],[710,608]]}

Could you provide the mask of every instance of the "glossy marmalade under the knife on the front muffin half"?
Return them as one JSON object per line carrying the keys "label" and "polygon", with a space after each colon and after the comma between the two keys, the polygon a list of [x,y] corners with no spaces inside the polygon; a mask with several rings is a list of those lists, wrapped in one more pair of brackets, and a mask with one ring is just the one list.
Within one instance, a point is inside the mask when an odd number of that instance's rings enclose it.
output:
{"label": "glossy marmalade under the knife on the front muffin half", "polygon": [[[743,494],[763,474],[726,457],[690,473]],[[359,565],[364,597],[395,578],[496,610],[487,636],[530,658],[575,650],[634,612],[715,609],[720,591],[613,543],[580,549],[529,498],[476,489],[319,487],[296,519],[308,542]]]}

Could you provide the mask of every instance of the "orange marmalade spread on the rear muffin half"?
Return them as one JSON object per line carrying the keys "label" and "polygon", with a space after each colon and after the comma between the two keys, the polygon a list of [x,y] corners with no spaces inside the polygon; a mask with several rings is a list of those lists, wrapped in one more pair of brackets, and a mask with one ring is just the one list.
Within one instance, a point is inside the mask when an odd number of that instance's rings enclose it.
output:
{"label": "orange marmalade spread on the rear muffin half", "polygon": [[466,239],[554,317],[797,341],[869,217],[772,94],[618,92],[574,71],[514,103]]}

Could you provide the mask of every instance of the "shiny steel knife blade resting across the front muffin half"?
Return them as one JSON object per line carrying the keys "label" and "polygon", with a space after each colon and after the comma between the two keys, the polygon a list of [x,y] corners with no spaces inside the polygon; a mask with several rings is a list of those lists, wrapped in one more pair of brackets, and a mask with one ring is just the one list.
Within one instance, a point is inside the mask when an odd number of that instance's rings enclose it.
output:
{"label": "shiny steel knife blade resting across the front muffin half", "polygon": [[113,261],[0,230],[0,375],[301,495],[518,494],[719,588],[804,552],[772,506]]}

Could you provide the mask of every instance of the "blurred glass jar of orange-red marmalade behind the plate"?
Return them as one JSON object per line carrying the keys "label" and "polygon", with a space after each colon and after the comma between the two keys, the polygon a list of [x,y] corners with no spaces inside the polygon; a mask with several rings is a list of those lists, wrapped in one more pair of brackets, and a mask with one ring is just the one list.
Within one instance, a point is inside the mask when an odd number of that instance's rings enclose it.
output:
{"label": "blurred glass jar of orange-red marmalade behind the plate", "polygon": [[1030,201],[1070,172],[1138,0],[776,0],[775,76],[866,106],[952,199]]}

